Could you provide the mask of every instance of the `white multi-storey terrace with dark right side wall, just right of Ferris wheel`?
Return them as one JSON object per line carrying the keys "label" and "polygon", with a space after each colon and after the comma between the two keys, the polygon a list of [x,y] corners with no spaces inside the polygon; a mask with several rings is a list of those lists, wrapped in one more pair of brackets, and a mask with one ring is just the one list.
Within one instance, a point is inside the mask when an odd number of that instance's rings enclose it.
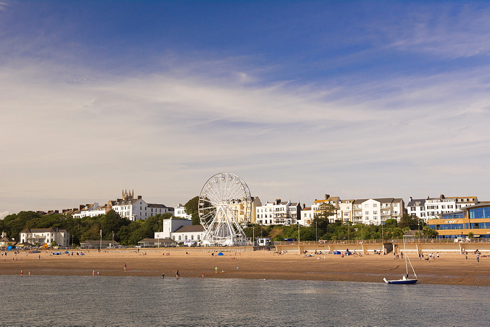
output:
{"label": "white multi-storey terrace with dark right side wall, just right of Ferris wheel", "polygon": [[291,225],[301,218],[301,205],[298,202],[276,199],[274,202],[256,207],[256,221],[261,225]]}

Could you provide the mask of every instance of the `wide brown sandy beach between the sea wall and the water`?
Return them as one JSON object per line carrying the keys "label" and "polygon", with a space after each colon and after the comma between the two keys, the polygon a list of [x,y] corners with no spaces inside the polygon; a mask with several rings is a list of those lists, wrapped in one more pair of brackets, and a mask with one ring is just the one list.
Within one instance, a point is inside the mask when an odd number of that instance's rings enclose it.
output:
{"label": "wide brown sandy beach between the sea wall and the water", "polygon": [[[89,276],[95,271],[95,275],[100,276],[161,277],[164,273],[166,278],[173,278],[179,270],[182,278],[202,278],[204,273],[205,278],[383,282],[384,277],[399,279],[405,272],[405,260],[393,259],[390,255],[303,257],[293,253],[250,251],[232,254],[230,258],[230,252],[223,252],[224,256],[214,252],[212,256],[212,252],[196,249],[83,252],[84,256],[55,256],[46,251],[8,253],[0,257],[0,275],[20,275],[22,270],[24,276],[29,273],[31,276]],[[490,286],[490,257],[480,257],[480,262],[475,255],[467,257],[467,261],[459,254],[441,254],[440,259],[431,261],[411,259],[419,283]]]}

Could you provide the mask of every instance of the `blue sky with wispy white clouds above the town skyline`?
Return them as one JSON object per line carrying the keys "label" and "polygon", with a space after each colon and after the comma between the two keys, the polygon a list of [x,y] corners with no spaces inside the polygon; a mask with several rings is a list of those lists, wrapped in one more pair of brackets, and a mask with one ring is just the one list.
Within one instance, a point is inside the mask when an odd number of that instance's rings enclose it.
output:
{"label": "blue sky with wispy white clouds above the town skyline", "polygon": [[487,1],[0,0],[0,218],[218,173],[490,200]]}

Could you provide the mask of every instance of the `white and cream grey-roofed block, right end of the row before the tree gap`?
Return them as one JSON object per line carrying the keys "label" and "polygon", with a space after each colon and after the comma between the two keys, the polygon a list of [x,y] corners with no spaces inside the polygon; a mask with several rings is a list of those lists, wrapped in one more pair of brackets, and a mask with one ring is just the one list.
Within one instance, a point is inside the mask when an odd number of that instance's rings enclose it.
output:
{"label": "white and cream grey-roofed block, right end of the row before the tree gap", "polygon": [[387,219],[399,220],[405,211],[401,198],[361,199],[353,203],[354,223],[380,225]]}

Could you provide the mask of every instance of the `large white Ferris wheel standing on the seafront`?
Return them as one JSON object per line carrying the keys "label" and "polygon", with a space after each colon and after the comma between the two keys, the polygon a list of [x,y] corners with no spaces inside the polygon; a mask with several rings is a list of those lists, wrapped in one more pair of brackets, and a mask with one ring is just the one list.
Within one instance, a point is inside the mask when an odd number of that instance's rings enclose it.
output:
{"label": "large white Ferris wheel standing on the seafront", "polygon": [[251,207],[250,191],[243,179],[229,173],[211,177],[199,194],[199,219],[206,230],[203,241],[226,245],[244,241]]}

